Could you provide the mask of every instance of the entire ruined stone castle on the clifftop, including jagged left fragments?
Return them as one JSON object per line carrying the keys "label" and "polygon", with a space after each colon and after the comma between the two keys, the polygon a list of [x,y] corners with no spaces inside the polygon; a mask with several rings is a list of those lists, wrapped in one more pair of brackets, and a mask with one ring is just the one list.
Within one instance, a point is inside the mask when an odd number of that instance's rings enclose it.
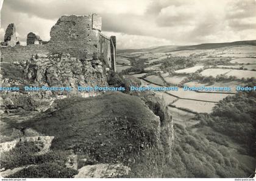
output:
{"label": "entire ruined stone castle on the clifftop, including jagged left fragments", "polygon": [[36,53],[69,53],[77,59],[101,60],[116,71],[116,37],[101,33],[102,18],[99,15],[64,15],[52,27],[48,42],[30,32],[27,46],[16,42],[14,24],[6,30],[4,44],[1,45],[1,61],[29,60]]}

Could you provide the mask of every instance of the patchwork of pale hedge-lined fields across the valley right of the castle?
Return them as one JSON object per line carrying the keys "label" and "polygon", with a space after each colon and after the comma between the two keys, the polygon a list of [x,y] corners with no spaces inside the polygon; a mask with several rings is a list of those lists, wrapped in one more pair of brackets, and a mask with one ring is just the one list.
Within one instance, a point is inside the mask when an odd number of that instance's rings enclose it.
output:
{"label": "patchwork of pale hedge-lined fields across the valley right of the castle", "polygon": [[[203,112],[210,114],[216,103],[236,93],[236,86],[243,86],[246,80],[256,77],[255,46],[191,50],[161,47],[132,53],[124,51],[118,56],[120,63],[118,72],[126,69],[123,73],[139,78],[142,86],[179,87],[179,91],[156,92],[156,94],[169,105],[172,115],[184,115],[183,118],[174,119],[182,125],[189,125],[190,121],[191,125],[194,125],[191,115]],[[134,68],[129,69],[130,66]],[[183,91],[183,86],[227,86],[231,90]],[[186,124],[181,120],[185,120]]]}

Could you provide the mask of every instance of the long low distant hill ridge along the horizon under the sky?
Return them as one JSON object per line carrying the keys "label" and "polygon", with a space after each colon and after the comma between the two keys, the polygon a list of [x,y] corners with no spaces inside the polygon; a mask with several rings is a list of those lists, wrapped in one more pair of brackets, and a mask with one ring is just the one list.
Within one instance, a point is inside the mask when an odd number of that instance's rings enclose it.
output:
{"label": "long low distant hill ridge along the horizon under the sky", "polygon": [[174,52],[179,50],[196,50],[196,49],[218,49],[221,47],[229,46],[256,46],[256,40],[249,41],[234,41],[231,43],[204,43],[197,44],[192,46],[158,46],[158,47],[149,47],[146,49],[122,49],[117,50],[117,53],[135,53],[135,52]]}

